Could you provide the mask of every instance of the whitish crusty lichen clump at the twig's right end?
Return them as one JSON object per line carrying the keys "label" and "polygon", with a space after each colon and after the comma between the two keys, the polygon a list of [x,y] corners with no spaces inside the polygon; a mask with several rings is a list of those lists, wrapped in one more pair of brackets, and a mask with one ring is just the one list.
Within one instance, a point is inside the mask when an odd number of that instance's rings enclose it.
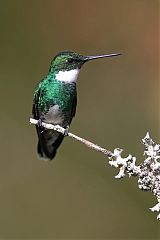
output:
{"label": "whitish crusty lichen clump at the twig's right end", "polygon": [[126,158],[121,156],[123,150],[116,148],[110,157],[109,164],[119,168],[115,178],[122,178],[125,173],[131,176],[138,176],[138,187],[141,190],[151,191],[156,196],[158,203],[150,208],[153,212],[158,212],[157,219],[160,220],[160,145],[155,144],[149,133],[142,139],[144,144],[144,162],[136,166],[136,158],[129,155]]}

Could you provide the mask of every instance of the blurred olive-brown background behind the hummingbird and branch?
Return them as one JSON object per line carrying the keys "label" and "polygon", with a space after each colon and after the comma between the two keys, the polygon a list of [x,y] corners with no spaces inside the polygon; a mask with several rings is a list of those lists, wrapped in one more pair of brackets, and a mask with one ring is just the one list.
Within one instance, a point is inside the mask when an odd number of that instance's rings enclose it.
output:
{"label": "blurred olive-brown background behind the hummingbird and branch", "polygon": [[71,131],[143,161],[158,141],[158,0],[0,1],[0,239],[160,239],[151,193],[114,179],[102,154],[66,138],[37,158],[29,125],[37,82],[62,50],[122,52],[86,64]]}

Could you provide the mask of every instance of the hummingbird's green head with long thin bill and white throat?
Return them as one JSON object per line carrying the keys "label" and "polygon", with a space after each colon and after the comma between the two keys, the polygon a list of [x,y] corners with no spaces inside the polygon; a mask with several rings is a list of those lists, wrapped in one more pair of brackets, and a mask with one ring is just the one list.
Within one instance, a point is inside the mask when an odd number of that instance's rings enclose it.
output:
{"label": "hummingbird's green head with long thin bill and white throat", "polygon": [[76,52],[64,51],[58,53],[52,60],[50,72],[55,72],[57,80],[73,82],[76,81],[82,65],[90,60],[118,56],[120,53],[113,53],[99,56],[83,56]]}

